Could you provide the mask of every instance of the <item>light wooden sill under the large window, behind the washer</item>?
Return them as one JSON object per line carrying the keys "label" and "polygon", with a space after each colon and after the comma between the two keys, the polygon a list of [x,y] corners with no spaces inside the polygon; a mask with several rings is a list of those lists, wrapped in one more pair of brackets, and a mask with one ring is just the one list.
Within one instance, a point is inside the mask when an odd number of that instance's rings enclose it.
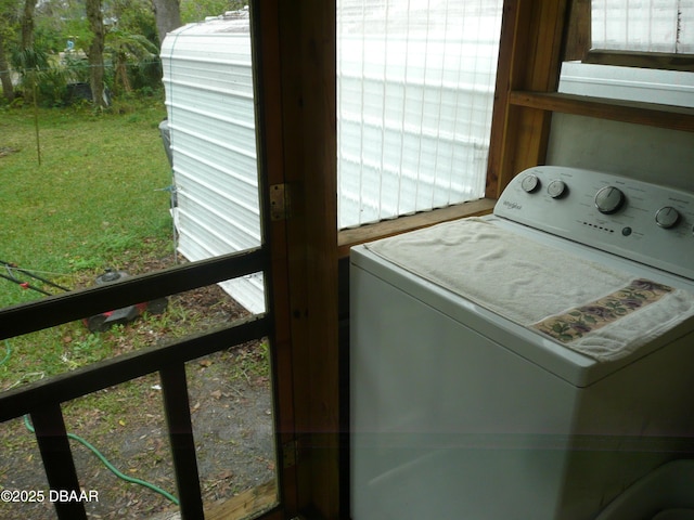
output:
{"label": "light wooden sill under the large window, behind the washer", "polygon": [[343,230],[337,233],[337,255],[339,258],[347,257],[350,247],[365,242],[427,227],[439,222],[490,213],[494,204],[496,200],[491,198],[480,198],[479,200],[471,200],[446,208],[433,209],[432,211],[422,211],[393,220],[384,220],[375,224]]}

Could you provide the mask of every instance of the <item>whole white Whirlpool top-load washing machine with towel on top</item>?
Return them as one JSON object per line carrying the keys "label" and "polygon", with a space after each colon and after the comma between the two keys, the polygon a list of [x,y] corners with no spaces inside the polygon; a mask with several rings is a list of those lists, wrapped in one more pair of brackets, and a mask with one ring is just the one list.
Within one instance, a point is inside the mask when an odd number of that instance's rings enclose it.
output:
{"label": "whole white Whirlpool top-load washing machine with towel on top", "polygon": [[694,193],[536,167],[355,247],[354,520],[591,519],[694,457]]}

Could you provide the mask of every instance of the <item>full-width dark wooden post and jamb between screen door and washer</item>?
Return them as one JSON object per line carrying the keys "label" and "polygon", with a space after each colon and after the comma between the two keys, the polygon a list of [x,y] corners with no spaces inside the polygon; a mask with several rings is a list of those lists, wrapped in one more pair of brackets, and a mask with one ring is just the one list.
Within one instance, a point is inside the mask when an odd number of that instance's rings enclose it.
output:
{"label": "full-width dark wooden post and jamb between screen door and washer", "polygon": [[[266,107],[270,182],[292,187],[293,210],[271,226],[279,355],[292,365],[296,507],[339,515],[335,2],[262,0],[277,18],[273,114]],[[265,31],[266,26],[262,27]],[[262,38],[262,37],[261,37]],[[266,73],[270,74],[264,65]],[[275,86],[269,84],[273,80]],[[266,94],[267,95],[267,94]],[[261,103],[265,103],[262,100]],[[271,129],[270,127],[273,127]],[[275,134],[277,128],[281,134]],[[283,251],[282,251],[283,249]],[[281,302],[280,300],[284,300]],[[281,411],[282,413],[282,411]]]}

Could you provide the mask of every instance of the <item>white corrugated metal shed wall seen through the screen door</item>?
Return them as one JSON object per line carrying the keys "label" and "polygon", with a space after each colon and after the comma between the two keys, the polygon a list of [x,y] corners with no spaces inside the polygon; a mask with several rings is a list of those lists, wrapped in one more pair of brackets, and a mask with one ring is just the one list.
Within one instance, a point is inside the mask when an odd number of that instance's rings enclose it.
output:
{"label": "white corrugated metal shed wall seen through the screen door", "polygon": [[[190,24],[162,44],[178,248],[203,260],[260,245],[250,37],[247,17]],[[226,282],[252,312],[265,309],[260,274]]]}

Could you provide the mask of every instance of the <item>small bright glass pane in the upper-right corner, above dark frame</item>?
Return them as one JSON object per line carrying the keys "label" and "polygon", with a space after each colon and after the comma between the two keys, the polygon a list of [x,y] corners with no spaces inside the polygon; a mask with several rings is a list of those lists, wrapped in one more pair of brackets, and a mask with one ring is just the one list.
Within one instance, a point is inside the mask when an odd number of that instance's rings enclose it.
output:
{"label": "small bright glass pane in the upper-right corner, above dark frame", "polygon": [[694,0],[593,0],[592,47],[694,52]]}

